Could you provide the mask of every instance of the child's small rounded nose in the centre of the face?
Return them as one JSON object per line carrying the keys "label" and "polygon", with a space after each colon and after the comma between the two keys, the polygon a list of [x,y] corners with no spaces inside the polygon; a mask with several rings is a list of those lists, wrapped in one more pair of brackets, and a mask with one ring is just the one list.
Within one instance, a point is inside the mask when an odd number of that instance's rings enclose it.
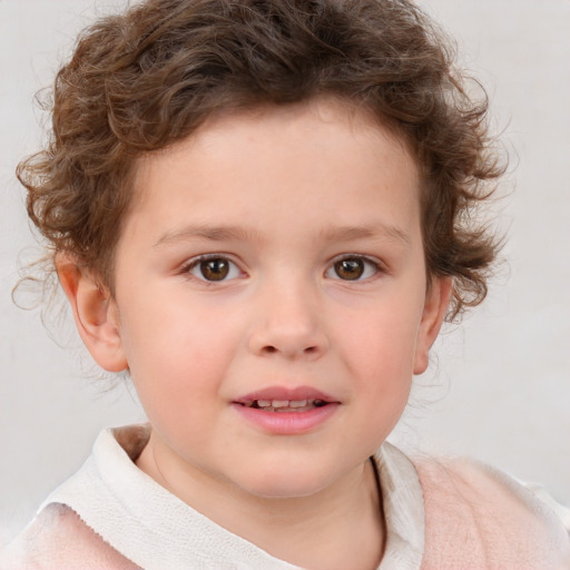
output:
{"label": "child's small rounded nose in the centre of the face", "polygon": [[255,304],[249,348],[258,356],[316,360],[328,348],[317,295],[299,285],[267,285]]}

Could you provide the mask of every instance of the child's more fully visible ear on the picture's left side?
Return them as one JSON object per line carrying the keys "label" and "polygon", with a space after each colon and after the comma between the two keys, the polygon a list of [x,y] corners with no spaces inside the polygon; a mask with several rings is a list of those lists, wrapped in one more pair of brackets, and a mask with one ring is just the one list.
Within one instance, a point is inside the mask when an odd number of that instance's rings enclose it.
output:
{"label": "child's more fully visible ear on the picture's left side", "polygon": [[71,305],[79,335],[91,356],[109,372],[127,368],[118,307],[110,292],[98,284],[92,273],[80,267],[70,255],[59,254],[56,268]]}

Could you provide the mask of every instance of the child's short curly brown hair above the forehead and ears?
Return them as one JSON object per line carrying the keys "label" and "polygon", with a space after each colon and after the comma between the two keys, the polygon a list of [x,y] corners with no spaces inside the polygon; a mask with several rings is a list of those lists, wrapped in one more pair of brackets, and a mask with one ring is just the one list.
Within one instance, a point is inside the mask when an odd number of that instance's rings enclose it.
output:
{"label": "child's short curly brown hair above the forehead and ears", "polygon": [[58,72],[51,139],[18,167],[29,216],[112,292],[138,157],[222,110],[333,96],[413,153],[428,274],[454,277],[453,318],[487,294],[498,243],[478,213],[503,169],[450,46],[407,0],[147,0],[86,29]]}

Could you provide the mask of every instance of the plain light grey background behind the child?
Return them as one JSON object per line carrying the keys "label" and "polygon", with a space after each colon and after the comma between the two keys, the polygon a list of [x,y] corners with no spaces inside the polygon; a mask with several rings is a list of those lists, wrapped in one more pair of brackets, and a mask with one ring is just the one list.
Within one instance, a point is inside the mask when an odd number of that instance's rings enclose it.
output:
{"label": "plain light grey background behind the child", "polygon": [[[33,94],[94,13],[122,3],[0,0],[0,542],[80,465],[102,426],[144,420],[128,385],[109,391],[98,379],[66,313],[50,326],[61,348],[39,311],[10,298],[18,258],[41,252],[13,177],[41,140]],[[394,438],[479,456],[569,504],[570,2],[421,3],[458,38],[504,130],[511,171],[494,215],[509,230],[509,264],[485,304],[438,341]]]}

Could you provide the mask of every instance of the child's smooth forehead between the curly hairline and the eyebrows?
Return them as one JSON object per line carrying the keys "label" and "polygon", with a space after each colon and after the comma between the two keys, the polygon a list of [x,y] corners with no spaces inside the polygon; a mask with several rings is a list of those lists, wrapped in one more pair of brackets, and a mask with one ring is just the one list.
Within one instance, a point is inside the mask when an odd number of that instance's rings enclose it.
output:
{"label": "child's smooth forehead between the curly hairline and the eyebrows", "polygon": [[[187,139],[139,160],[134,210],[197,224],[325,232],[365,218],[419,219],[419,173],[404,139],[366,109],[321,99],[214,117]],[[294,203],[294,204],[291,204]],[[299,215],[303,214],[303,215]],[[180,219],[177,219],[180,218]]]}

